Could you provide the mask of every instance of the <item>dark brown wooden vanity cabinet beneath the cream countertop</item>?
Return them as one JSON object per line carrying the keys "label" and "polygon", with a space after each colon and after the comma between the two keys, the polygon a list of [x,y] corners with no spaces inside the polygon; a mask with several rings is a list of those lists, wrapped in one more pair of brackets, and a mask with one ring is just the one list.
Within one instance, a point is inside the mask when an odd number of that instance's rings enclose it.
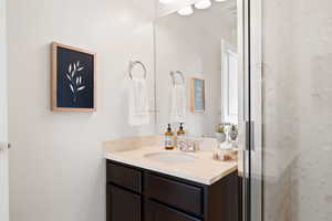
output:
{"label": "dark brown wooden vanity cabinet beneath the cream countertop", "polygon": [[238,220],[237,172],[201,185],[107,160],[107,221]]}

